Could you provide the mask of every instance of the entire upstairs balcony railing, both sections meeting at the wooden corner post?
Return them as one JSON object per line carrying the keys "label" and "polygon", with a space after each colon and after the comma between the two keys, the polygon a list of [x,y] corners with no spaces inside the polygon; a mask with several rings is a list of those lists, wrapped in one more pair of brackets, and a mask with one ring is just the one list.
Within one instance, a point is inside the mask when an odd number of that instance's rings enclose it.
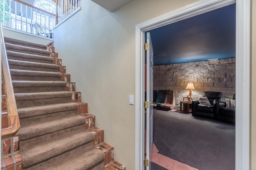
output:
{"label": "entire upstairs balcony railing, both sections meeting at the wooden corner post", "polygon": [[53,38],[56,24],[80,8],[80,0],[56,0],[54,14],[20,0],[0,3],[2,26],[49,38]]}

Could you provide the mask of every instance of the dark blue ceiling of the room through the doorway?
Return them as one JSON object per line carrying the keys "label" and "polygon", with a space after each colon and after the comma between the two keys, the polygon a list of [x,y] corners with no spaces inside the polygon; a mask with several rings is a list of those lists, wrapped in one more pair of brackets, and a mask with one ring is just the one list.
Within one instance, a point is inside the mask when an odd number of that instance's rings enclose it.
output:
{"label": "dark blue ceiling of the room through the doorway", "polygon": [[150,30],[154,65],[236,56],[236,4]]}

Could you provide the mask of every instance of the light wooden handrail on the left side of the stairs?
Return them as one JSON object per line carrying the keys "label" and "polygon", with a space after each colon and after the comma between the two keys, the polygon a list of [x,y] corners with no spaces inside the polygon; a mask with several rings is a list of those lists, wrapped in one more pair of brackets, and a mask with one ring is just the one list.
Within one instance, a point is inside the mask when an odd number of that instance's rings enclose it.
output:
{"label": "light wooden handrail on the left side of the stairs", "polygon": [[8,115],[8,127],[1,129],[2,139],[13,137],[20,129],[20,120],[18,116],[16,100],[14,96],[14,90],[12,86],[12,78],[10,74],[10,68],[8,64],[8,59],[6,55],[6,48],[4,45],[4,35],[1,28],[1,57],[2,57],[2,78],[4,83],[4,93],[6,100],[6,110]]}

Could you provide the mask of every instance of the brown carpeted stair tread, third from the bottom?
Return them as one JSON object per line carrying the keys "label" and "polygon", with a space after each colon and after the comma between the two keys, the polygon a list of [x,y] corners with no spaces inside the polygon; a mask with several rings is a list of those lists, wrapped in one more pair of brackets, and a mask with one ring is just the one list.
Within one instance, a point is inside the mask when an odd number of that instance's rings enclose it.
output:
{"label": "brown carpeted stair tread, third from the bottom", "polygon": [[[70,115],[69,117],[64,117],[62,119],[53,119],[52,121],[42,122],[42,123],[31,123],[25,127],[21,127],[19,130],[20,141],[39,137],[49,133],[54,133],[62,129],[67,129],[70,127],[82,125],[86,122],[86,119],[80,115]],[[29,123],[28,123],[29,124]]]}

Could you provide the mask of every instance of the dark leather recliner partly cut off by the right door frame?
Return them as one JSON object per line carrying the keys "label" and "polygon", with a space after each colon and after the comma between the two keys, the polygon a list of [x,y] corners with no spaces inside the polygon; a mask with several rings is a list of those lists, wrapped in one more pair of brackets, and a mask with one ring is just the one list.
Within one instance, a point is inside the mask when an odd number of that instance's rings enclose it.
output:
{"label": "dark leather recliner partly cut off by the right door frame", "polygon": [[[233,100],[236,100],[236,94],[233,96]],[[226,102],[216,104],[216,116],[220,121],[235,124],[236,122],[236,108],[226,107]]]}

